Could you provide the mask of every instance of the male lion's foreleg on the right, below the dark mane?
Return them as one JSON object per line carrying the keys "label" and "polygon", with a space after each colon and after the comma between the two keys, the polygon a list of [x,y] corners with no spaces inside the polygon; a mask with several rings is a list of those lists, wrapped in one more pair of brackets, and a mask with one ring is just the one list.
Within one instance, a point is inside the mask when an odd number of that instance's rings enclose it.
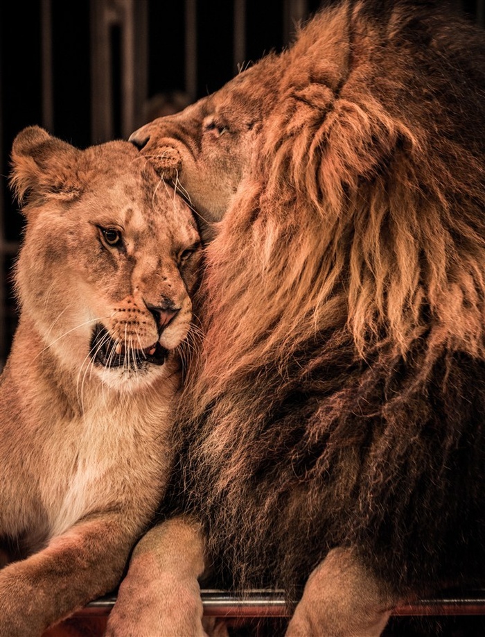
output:
{"label": "male lion's foreleg on the right, below the dark mane", "polygon": [[378,637],[396,602],[350,550],[334,549],[308,578],[286,637]]}

